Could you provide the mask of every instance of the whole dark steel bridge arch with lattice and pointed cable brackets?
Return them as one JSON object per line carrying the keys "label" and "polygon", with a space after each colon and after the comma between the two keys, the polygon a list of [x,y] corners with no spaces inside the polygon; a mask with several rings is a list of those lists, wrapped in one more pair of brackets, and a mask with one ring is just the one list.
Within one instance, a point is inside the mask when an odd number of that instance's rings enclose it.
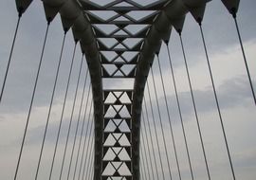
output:
{"label": "whole dark steel bridge arch with lattice and pointed cable brackets", "polygon": [[[22,14],[32,0],[16,0]],[[187,12],[202,21],[209,0],[43,0],[46,20],[60,13],[89,66],[95,109],[95,179],[139,179],[139,128],[144,86],[161,42],[181,32]],[[230,12],[239,0],[223,0]],[[104,80],[133,80],[106,89]],[[115,83],[115,81],[112,81]]]}

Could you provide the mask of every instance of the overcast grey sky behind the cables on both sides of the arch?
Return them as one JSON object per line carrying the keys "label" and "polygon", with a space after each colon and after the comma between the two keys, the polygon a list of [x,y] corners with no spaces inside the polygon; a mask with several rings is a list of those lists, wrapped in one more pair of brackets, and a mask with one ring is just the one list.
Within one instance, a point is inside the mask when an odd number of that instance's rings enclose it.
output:
{"label": "overcast grey sky behind the cables on both sides of the arch", "polygon": [[[245,45],[252,81],[256,88],[255,7],[256,2],[254,0],[241,1],[237,19]],[[0,2],[0,87],[3,83],[4,73],[8,63],[9,50],[16,21],[17,12],[15,9],[15,1],[2,0]],[[56,72],[56,65],[58,63],[64,35],[61,26],[60,18],[57,16],[49,29],[46,54],[39,78],[38,89],[27,132],[26,146],[19,171],[20,180],[32,179],[34,177],[42,135],[46,124],[46,112],[54,81],[53,77]],[[253,103],[249,89],[245,64],[243,62],[241,48],[238,44],[234,22],[227,9],[225,9],[220,1],[213,0],[208,4],[203,28],[237,179],[254,180],[256,176],[256,106]],[[10,64],[6,91],[0,105],[0,179],[3,180],[13,178],[15,171],[21,137],[27,118],[28,105],[31,98],[32,85],[40,58],[45,31],[46,20],[42,2],[34,1],[21,21],[12,62]],[[220,129],[219,118],[217,116],[216,104],[213,99],[210,76],[200,39],[199,27],[192,19],[191,14],[187,15],[185,21],[183,40],[191,71],[192,86],[198,108],[199,120],[202,125],[202,133],[206,144],[211,177],[212,179],[229,180],[231,179],[229,161]],[[74,41],[72,33],[69,31],[64,46],[64,59],[60,71],[61,79],[57,85],[57,93],[50,119],[50,131],[46,138],[46,149],[42,161],[43,168],[40,171],[38,179],[45,179],[49,172],[49,159],[53,153],[53,142],[56,138],[56,131],[61,115],[64,88],[73,47]],[[189,149],[192,154],[194,176],[196,177],[195,179],[204,180],[207,176],[192,111],[192,99],[188,79],[186,77],[178,35],[174,30],[171,35],[170,50],[174,62],[174,74],[177,81],[182,115],[188,134]],[[71,113],[72,99],[74,97],[75,82],[78,76],[81,56],[79,47],[76,53],[74,73],[72,74],[72,83],[68,94],[67,110],[64,114],[64,129],[67,128]],[[174,120],[174,135],[177,139],[176,142],[179,150],[178,157],[180,159],[182,176],[183,179],[191,179],[189,176],[188,160],[185,155],[184,140],[180,129],[180,119],[177,115],[174,86],[171,81],[171,72],[165,45],[162,45],[161,48],[160,62],[171,109],[170,113],[172,120]],[[171,165],[174,170],[174,177],[177,179],[170,129],[168,126],[168,118],[166,117],[166,107],[156,65],[157,63],[155,61],[153,69],[157,85],[157,98],[159,99],[161,113],[166,127],[165,134],[168,139],[170,138],[168,147],[169,150],[171,150]],[[86,65],[84,65],[82,70],[82,80],[84,80],[85,77],[85,66]],[[123,81],[123,84],[127,83],[131,85],[130,82]],[[149,76],[149,83],[155,105],[151,76]],[[111,84],[108,84],[108,86],[111,87]],[[147,90],[145,92],[146,100],[148,101]],[[82,85],[80,86],[78,96],[82,96]],[[80,101],[81,98],[78,100],[74,119],[78,117],[78,105]],[[157,117],[156,108],[155,117]],[[74,132],[74,127],[72,131]],[[157,132],[161,135],[159,129]],[[62,138],[61,144],[61,146],[64,145],[64,138]],[[58,160],[61,158],[61,153],[61,151],[58,153]],[[164,153],[162,154],[164,156]],[[59,173],[59,169],[60,167],[56,166],[56,170],[54,171],[56,177]],[[166,169],[166,175],[167,174]]]}

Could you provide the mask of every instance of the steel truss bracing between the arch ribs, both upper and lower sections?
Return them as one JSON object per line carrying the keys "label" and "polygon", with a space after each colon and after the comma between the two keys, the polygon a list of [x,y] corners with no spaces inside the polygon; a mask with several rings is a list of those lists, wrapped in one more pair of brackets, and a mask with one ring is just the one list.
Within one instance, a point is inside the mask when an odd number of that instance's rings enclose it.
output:
{"label": "steel truss bracing between the arch ribs, both upper and lower sections", "polygon": [[[135,79],[144,40],[167,1],[155,1],[147,6],[119,0],[107,4],[80,2],[97,39],[101,78]],[[132,89],[103,89],[102,180],[134,179],[133,99]]]}

